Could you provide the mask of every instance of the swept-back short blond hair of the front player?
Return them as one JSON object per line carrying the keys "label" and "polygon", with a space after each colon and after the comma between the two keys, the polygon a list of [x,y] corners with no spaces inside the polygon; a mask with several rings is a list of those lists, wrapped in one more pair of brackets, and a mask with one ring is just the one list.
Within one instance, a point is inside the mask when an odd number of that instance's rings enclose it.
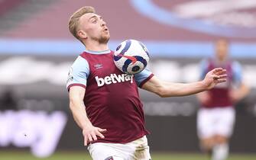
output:
{"label": "swept-back short blond hair of the front player", "polygon": [[[77,27],[79,25],[79,18],[81,18],[83,16],[83,14],[86,13],[95,13],[95,9],[91,6],[84,6],[82,8],[79,8],[77,11],[75,11],[71,17],[70,17],[70,21],[69,21],[69,29],[70,29],[70,33],[73,34],[74,37],[76,37],[78,40],[79,36],[77,35]],[[81,40],[80,40],[81,41]]]}

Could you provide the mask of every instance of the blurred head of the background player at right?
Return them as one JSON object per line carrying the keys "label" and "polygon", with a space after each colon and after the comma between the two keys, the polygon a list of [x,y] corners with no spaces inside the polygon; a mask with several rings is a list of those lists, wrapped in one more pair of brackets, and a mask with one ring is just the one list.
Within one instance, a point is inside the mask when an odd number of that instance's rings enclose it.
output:
{"label": "blurred head of the background player at right", "polygon": [[228,42],[218,40],[216,42],[216,56],[219,60],[224,60],[228,56]]}

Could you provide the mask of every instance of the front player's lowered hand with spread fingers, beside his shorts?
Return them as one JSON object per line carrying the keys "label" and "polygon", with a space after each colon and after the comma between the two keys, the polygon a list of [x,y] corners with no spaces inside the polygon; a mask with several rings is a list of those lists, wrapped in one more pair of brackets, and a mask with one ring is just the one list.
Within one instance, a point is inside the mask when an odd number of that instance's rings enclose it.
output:
{"label": "front player's lowered hand with spread fingers, beside his shorts", "polygon": [[97,136],[104,139],[102,133],[105,133],[106,129],[101,129],[96,126],[88,125],[83,129],[84,146],[87,146],[89,142],[97,140]]}

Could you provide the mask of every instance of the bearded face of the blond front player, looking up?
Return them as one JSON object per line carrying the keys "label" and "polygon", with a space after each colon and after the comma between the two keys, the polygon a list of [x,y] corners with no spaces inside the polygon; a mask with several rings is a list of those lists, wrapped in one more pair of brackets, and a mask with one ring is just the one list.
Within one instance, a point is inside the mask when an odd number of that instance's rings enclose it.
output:
{"label": "bearded face of the blond front player, looking up", "polygon": [[78,30],[83,31],[85,34],[83,38],[87,38],[88,40],[96,40],[99,43],[108,43],[109,41],[109,28],[98,14],[83,14],[79,19]]}

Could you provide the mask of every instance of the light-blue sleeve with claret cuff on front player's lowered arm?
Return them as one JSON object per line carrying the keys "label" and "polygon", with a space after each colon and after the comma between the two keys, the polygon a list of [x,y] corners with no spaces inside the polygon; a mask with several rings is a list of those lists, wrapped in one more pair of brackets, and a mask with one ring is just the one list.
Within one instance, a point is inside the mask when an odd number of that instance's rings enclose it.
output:
{"label": "light-blue sleeve with claret cuff on front player's lowered arm", "polygon": [[66,88],[69,90],[71,86],[78,85],[86,88],[87,78],[89,76],[89,64],[86,59],[78,56],[70,68],[70,72],[66,81]]}

